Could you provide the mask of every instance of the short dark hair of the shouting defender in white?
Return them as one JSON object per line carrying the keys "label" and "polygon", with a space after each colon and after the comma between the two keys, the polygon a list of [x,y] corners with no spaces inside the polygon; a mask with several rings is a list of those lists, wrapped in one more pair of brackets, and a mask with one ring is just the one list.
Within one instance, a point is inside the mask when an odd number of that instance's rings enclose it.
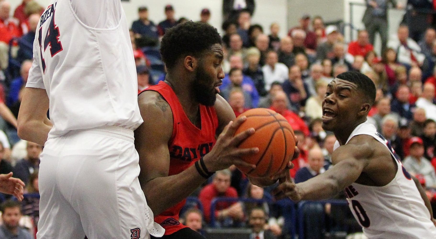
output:
{"label": "short dark hair of the shouting defender in white", "polygon": [[361,91],[365,96],[365,102],[371,106],[375,101],[375,84],[366,75],[357,71],[347,71],[339,74],[336,78],[349,81],[357,85],[358,91]]}

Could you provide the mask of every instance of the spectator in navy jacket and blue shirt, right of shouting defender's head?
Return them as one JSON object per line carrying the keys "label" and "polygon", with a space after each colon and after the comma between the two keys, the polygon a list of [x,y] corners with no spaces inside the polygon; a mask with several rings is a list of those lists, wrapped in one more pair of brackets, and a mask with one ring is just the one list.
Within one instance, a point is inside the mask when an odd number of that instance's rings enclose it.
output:
{"label": "spectator in navy jacket and blue shirt, right of shouting defender's head", "polygon": [[391,102],[391,111],[399,114],[401,118],[406,118],[408,121],[412,120],[412,110],[415,108],[415,104],[409,103],[409,94],[409,87],[401,85],[397,90],[397,97]]}

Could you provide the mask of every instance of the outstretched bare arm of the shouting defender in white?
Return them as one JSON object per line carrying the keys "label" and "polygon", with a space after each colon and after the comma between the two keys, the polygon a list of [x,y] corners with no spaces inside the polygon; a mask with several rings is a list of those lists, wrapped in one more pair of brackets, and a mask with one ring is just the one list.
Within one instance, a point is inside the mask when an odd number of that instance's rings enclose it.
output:
{"label": "outstretched bare arm of the shouting defender in white", "polygon": [[371,136],[354,136],[347,145],[342,145],[333,152],[334,166],[329,170],[297,184],[287,180],[274,189],[272,194],[277,199],[290,197],[294,201],[321,200],[337,195],[355,182],[369,164],[374,152],[369,141]]}

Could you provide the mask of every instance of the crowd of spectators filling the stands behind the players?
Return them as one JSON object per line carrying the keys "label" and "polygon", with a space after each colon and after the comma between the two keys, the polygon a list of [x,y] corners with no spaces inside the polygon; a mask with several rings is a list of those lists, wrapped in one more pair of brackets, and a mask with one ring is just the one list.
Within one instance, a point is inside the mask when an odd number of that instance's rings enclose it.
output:
{"label": "crowd of spectators filling the stands behind the players", "polygon": [[[407,9],[433,9],[428,4],[419,5],[420,1],[408,2]],[[235,115],[258,107],[282,114],[299,139],[300,156],[290,174],[296,182],[303,182],[331,167],[330,155],[336,138],[321,127],[321,104],[327,85],[338,74],[359,71],[371,78],[377,88],[368,121],[392,145],[404,167],[420,180],[436,209],[436,31],[429,21],[421,24],[425,27],[414,27],[423,14],[427,17],[432,14],[419,12],[414,18],[407,11],[397,34],[388,36],[387,9],[390,5],[399,9],[405,6],[395,0],[368,0],[362,19],[365,29],[358,31],[356,40],[345,42],[337,25],[326,26],[322,16],[309,14],[303,14],[298,23],[290,26],[286,36],[279,36],[280,28],[286,26],[273,23],[264,29],[252,22],[254,3],[254,0],[223,3],[225,78],[220,94]],[[43,10],[36,1],[23,0],[11,16],[10,4],[0,0],[0,173],[14,172],[15,177],[28,185],[28,193],[38,192],[42,147],[20,141],[15,128]],[[165,79],[159,41],[168,28],[188,20],[176,19],[171,5],[164,7],[166,19],[158,24],[149,19],[148,13],[147,7],[139,7],[138,20],[130,30],[138,92]],[[218,13],[203,9],[199,16],[190,18],[207,24],[211,14]],[[381,37],[380,52],[373,47],[375,33]],[[214,214],[219,226],[250,226],[253,239],[286,238],[283,214],[266,203],[272,199],[269,190],[250,185],[237,168],[217,172],[208,185],[194,194],[204,210],[185,210],[184,223],[202,232]],[[211,200],[217,196],[265,202],[222,202],[211,212]],[[337,198],[344,199],[344,195]],[[2,207],[4,224],[15,223],[22,214],[31,217],[29,227],[36,230],[38,199],[25,198],[21,208],[8,203]],[[305,222],[312,228],[307,232],[313,233],[307,233],[306,238],[321,238],[317,233],[325,227],[313,228],[323,225],[325,220],[337,222],[352,217],[334,205],[311,206],[307,212],[311,213],[305,215]],[[10,216],[11,213],[16,215]],[[0,228],[0,235],[11,233],[4,228]],[[22,232],[14,230],[13,234],[17,233]]]}

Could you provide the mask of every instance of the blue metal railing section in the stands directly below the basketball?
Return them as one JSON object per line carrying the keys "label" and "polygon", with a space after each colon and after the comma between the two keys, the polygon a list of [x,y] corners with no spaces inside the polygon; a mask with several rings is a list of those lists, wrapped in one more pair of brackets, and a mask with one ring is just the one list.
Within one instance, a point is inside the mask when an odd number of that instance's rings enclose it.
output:
{"label": "blue metal railing section in the stands directly below the basketball", "polygon": [[276,203],[283,209],[283,217],[285,219],[285,223],[283,225],[283,232],[289,234],[291,239],[295,238],[296,235],[296,210],[295,203],[290,199],[283,199],[277,202],[265,199],[244,199],[244,198],[226,198],[226,197],[217,197],[211,202],[211,227],[216,226],[216,218],[215,218],[215,208],[218,202],[255,202],[255,203]]}

